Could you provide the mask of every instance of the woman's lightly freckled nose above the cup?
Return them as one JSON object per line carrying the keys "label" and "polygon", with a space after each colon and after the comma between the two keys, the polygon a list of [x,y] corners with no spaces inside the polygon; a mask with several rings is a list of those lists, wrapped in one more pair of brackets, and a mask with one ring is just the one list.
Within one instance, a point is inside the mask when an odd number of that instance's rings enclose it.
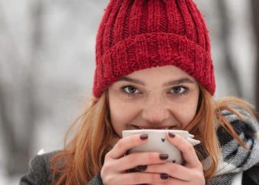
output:
{"label": "woman's lightly freckled nose above the cup", "polygon": [[153,125],[161,124],[169,118],[169,109],[162,97],[149,98],[143,105],[142,117]]}

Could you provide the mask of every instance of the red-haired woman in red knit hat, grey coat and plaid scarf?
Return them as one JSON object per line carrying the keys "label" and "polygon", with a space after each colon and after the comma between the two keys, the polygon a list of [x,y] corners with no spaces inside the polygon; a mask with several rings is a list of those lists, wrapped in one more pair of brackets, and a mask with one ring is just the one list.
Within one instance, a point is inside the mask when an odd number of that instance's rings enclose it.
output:
{"label": "red-haired woman in red knit hat, grey coat and plaid scarf", "polygon": [[[20,184],[259,184],[252,106],[215,101],[214,92],[208,29],[193,1],[111,0],[97,34],[94,97],[64,149],[36,156]],[[169,132],[183,165],[165,162],[167,153],[126,155],[148,135],[121,138],[122,130],[140,128],[187,130],[201,144]]]}

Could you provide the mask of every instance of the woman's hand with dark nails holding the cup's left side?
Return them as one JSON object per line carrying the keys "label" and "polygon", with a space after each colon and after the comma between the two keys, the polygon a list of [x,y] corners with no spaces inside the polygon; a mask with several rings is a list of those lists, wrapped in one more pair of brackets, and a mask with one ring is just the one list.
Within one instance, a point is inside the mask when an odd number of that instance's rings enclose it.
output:
{"label": "woman's hand with dark nails holding the cup's left side", "polygon": [[[160,173],[143,173],[149,164],[165,163],[168,155],[158,152],[125,153],[132,147],[147,143],[147,134],[136,134],[121,138],[106,154],[101,169],[101,179],[104,185],[116,184],[151,184],[167,180],[169,175]],[[127,173],[137,167],[140,172]]]}

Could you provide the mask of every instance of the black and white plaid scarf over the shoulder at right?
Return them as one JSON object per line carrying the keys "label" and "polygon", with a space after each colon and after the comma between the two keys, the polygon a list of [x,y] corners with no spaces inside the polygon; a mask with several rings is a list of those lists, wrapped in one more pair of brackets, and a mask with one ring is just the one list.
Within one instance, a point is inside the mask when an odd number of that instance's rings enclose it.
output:
{"label": "black and white plaid scarf over the shoulder at right", "polygon": [[[241,147],[240,144],[238,144],[238,142],[225,129],[223,129],[223,127],[219,127],[217,135],[221,145],[221,160],[219,161],[219,166],[215,175],[212,177],[212,180],[206,181],[206,185],[232,184],[235,175],[243,173],[243,171],[259,164],[258,121],[252,119],[244,110],[238,109],[238,112],[243,114],[246,120],[245,123],[240,121],[235,114],[232,114],[232,112],[228,110],[223,110],[222,115],[232,123],[234,130],[251,152]],[[203,164],[204,169],[208,169],[208,167],[210,167],[210,158],[206,156],[206,154],[203,156],[204,159],[201,160],[201,163]]]}

